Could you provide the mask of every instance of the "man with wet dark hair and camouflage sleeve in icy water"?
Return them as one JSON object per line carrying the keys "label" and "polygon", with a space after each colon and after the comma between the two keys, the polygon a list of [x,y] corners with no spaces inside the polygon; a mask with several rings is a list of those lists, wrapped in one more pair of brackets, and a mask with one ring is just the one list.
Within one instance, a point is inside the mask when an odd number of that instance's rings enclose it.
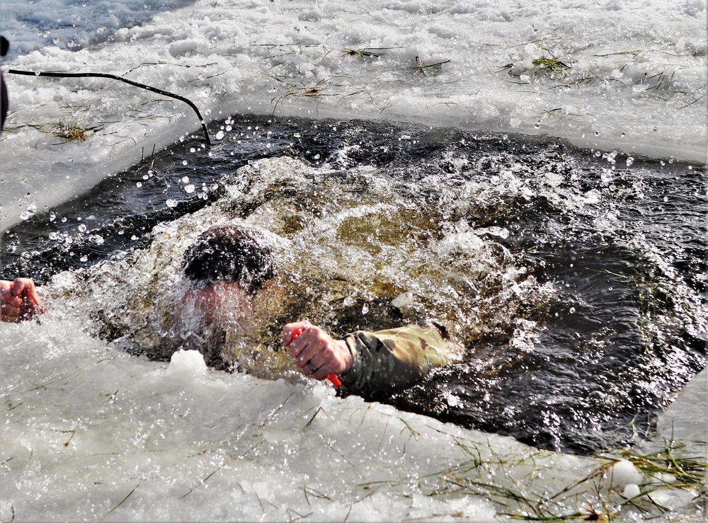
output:
{"label": "man with wet dark hair and camouflage sleeve in icy water", "polygon": [[[219,315],[224,306],[229,312],[239,306],[245,308],[259,293],[275,285],[273,251],[258,231],[222,226],[205,231],[187,249],[183,270],[193,285],[185,292],[182,303],[198,313],[200,321],[196,347],[209,362],[218,361],[220,356],[213,352],[220,352],[227,343]],[[30,280],[8,289],[13,299],[8,299],[5,321],[32,317],[31,300],[18,301],[20,295],[28,292],[34,296]],[[4,297],[4,290],[3,293]],[[205,333],[210,339],[205,339]],[[375,333],[357,331],[341,340],[307,320],[287,323],[282,328],[282,346],[287,347],[302,374],[320,381],[334,374],[341,379],[345,391],[365,398],[379,398],[411,386],[433,367],[452,363],[450,355],[455,351],[451,345],[445,330],[433,323]]]}

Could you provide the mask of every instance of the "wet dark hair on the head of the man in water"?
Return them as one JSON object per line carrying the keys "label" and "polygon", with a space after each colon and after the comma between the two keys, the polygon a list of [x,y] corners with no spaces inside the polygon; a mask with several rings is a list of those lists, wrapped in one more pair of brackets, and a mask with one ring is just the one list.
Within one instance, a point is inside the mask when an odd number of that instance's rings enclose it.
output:
{"label": "wet dark hair on the head of the man in water", "polygon": [[238,283],[249,294],[275,276],[273,249],[258,231],[240,226],[200,234],[185,252],[182,267],[190,280]]}

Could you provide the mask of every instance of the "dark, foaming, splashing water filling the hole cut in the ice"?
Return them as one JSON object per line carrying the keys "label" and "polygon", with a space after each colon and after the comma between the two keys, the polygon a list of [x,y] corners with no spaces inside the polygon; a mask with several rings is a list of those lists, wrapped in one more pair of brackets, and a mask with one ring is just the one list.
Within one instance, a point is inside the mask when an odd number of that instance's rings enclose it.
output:
{"label": "dark, foaming, splashing water filling the hole cut in the ice", "polygon": [[[390,401],[550,449],[627,442],[704,366],[702,166],[382,123],[229,125],[208,154],[184,142],[53,209],[67,222],[8,231],[6,271],[60,273],[57,311],[76,304],[93,335],[167,360],[184,343],[183,251],[210,226],[256,226],[280,294],[229,364],[296,380],[275,347],[299,317],[336,335],[434,318],[462,362]],[[107,193],[97,245],[72,228]]]}

